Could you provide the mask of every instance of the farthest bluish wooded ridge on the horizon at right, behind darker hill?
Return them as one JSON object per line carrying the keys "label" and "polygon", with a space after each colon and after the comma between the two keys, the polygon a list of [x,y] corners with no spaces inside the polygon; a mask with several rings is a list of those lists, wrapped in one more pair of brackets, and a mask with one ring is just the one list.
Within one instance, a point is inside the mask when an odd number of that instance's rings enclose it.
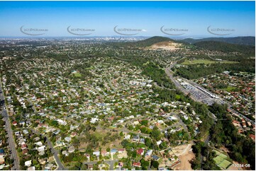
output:
{"label": "farthest bluish wooded ridge on the horizon at right, behind darker hill", "polygon": [[196,42],[205,42],[205,41],[216,41],[216,42],[226,42],[231,44],[238,45],[253,45],[255,46],[255,37],[253,36],[245,36],[245,37],[208,37],[204,39],[184,39],[180,40],[181,42],[187,42],[194,44]]}

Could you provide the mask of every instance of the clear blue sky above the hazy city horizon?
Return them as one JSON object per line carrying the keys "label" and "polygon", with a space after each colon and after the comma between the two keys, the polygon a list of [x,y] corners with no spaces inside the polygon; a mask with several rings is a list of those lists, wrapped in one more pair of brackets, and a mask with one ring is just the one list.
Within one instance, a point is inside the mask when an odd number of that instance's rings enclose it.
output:
{"label": "clear blue sky above the hazy city horizon", "polygon": [[[74,36],[69,25],[94,29],[90,36],[118,35],[116,25],[144,30],[129,32],[141,36],[167,36],[163,25],[184,29],[168,32],[184,37],[255,36],[255,1],[0,1],[0,25],[0,36],[24,36],[21,26],[47,29],[43,36]],[[228,31],[213,35],[210,25]]]}

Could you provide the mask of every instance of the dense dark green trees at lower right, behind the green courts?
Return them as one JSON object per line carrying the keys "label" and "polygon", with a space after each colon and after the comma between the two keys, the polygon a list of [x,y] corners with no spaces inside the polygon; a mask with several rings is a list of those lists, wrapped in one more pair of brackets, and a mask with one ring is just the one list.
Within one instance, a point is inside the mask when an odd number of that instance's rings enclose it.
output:
{"label": "dense dark green trees at lower right, behind the green courts", "polygon": [[211,141],[219,146],[226,146],[229,155],[238,163],[249,163],[255,170],[255,143],[247,136],[238,134],[238,130],[232,124],[232,119],[226,112],[227,106],[213,104],[210,110],[216,114],[218,121],[211,128]]}

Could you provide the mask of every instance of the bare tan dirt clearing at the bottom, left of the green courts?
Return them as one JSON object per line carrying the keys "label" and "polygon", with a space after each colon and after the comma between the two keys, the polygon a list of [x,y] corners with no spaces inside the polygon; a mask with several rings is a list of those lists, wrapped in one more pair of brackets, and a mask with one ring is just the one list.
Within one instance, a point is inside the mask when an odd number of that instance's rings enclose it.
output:
{"label": "bare tan dirt clearing at the bottom, left of the green courts", "polygon": [[189,161],[195,157],[194,153],[192,152],[191,144],[186,144],[182,146],[177,146],[176,148],[172,149],[172,151],[177,151],[176,155],[179,157],[181,163],[174,167],[174,170],[192,170],[191,164]]}

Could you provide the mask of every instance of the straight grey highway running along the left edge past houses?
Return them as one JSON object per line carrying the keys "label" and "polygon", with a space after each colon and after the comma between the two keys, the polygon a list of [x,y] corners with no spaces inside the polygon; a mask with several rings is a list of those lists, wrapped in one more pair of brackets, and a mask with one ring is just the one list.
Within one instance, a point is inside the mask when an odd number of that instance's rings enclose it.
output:
{"label": "straight grey highway running along the left edge past houses", "polygon": [[6,111],[6,106],[3,104],[4,103],[4,92],[1,90],[1,81],[0,81],[0,101],[2,102],[1,104],[1,111],[2,111],[2,116],[4,117],[4,121],[6,123],[5,129],[7,131],[8,135],[8,143],[9,143],[9,148],[10,148],[10,153],[11,153],[11,158],[13,158],[13,167],[11,170],[20,170],[20,160],[18,158],[18,153],[16,151],[16,143],[13,138],[13,130],[11,129],[11,124],[9,120],[9,114]]}

